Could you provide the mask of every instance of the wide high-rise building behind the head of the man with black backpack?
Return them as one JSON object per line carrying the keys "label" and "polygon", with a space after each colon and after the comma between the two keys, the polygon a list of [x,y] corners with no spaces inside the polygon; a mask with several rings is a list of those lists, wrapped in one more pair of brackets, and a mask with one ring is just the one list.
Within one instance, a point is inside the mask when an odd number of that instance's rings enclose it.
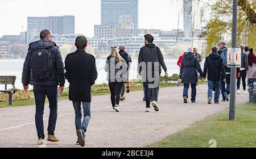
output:
{"label": "wide high-rise building behind the head of the man with black backpack", "polygon": [[28,42],[44,29],[51,30],[52,34],[75,34],[75,16],[28,17]]}

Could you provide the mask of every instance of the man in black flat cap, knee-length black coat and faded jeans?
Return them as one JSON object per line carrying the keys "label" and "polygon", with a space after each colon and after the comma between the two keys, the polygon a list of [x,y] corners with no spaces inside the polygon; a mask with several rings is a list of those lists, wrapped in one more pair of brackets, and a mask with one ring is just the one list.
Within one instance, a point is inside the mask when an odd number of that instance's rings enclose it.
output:
{"label": "man in black flat cap, knee-length black coat and faded jeans", "polygon": [[[87,43],[85,36],[77,37],[75,43],[77,51],[69,54],[65,59],[65,77],[69,82],[69,100],[73,102],[76,114],[77,144],[82,147],[85,145],[84,134],[90,120],[91,86],[98,76],[94,56],[85,52]],[[82,123],[81,103],[84,110]]]}

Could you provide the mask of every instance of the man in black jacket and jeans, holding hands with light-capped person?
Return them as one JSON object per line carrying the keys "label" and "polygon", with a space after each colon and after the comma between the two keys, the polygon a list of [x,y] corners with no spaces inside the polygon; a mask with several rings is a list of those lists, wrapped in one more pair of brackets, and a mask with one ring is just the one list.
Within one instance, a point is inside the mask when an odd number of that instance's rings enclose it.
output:
{"label": "man in black jacket and jeans, holding hands with light-capped person", "polygon": [[217,53],[218,48],[213,47],[212,53],[205,59],[203,77],[208,73],[208,104],[212,104],[212,91],[215,87],[214,103],[219,104],[220,80],[226,82],[225,65]]}

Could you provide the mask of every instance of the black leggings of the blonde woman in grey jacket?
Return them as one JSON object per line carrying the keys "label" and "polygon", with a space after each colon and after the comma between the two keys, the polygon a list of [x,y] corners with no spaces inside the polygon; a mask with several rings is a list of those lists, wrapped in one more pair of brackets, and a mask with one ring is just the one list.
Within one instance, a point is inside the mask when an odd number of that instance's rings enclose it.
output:
{"label": "black leggings of the blonde woman in grey jacket", "polygon": [[109,82],[112,107],[115,107],[116,104],[119,106],[122,86],[123,82]]}

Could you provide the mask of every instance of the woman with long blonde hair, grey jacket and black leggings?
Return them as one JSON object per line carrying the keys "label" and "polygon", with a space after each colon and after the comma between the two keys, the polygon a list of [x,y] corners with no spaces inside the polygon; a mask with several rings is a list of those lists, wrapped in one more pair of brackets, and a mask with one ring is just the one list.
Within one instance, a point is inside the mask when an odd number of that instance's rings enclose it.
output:
{"label": "woman with long blonde hair, grey jacket and black leggings", "polygon": [[119,101],[123,82],[126,82],[127,64],[119,55],[117,47],[112,47],[106,59],[105,72],[111,93],[112,111],[119,112]]}

